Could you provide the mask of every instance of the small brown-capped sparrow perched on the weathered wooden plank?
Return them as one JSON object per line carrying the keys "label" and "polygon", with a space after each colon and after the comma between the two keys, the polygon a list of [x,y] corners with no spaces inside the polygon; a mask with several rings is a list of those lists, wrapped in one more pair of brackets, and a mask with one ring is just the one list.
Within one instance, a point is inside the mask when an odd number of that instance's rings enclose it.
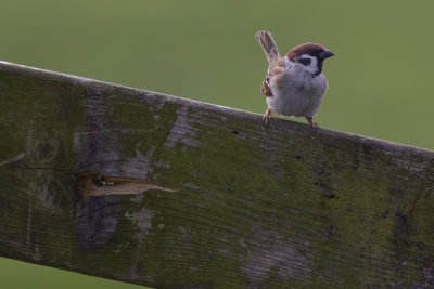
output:
{"label": "small brown-capped sparrow perched on the weathered wooden plank", "polygon": [[255,35],[268,60],[267,75],[260,92],[266,95],[268,108],[263,117],[268,128],[271,111],[282,116],[304,117],[312,128],[328,82],[322,71],[323,61],[334,55],[318,43],[302,43],[282,57],[269,31]]}

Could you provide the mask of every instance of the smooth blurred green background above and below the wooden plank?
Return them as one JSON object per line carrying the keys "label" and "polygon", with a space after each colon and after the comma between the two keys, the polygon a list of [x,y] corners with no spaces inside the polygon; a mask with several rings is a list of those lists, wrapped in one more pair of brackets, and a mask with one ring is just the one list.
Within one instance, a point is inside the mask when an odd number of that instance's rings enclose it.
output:
{"label": "smooth blurred green background above and below the wooden plank", "polygon": [[[2,0],[0,60],[263,114],[267,63],[318,42],[332,128],[434,149],[433,1]],[[294,120],[294,119],[293,119]],[[297,120],[304,121],[304,120]],[[0,288],[139,288],[0,259]]]}

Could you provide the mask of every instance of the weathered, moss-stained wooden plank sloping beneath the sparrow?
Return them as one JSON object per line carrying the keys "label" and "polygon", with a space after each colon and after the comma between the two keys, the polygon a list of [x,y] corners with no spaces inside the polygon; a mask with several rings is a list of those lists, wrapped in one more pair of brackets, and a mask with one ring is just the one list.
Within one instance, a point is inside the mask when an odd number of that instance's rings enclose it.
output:
{"label": "weathered, moss-stained wooden plank sloping beneath the sparrow", "polygon": [[8,63],[0,105],[2,257],[158,288],[434,286],[433,152]]}

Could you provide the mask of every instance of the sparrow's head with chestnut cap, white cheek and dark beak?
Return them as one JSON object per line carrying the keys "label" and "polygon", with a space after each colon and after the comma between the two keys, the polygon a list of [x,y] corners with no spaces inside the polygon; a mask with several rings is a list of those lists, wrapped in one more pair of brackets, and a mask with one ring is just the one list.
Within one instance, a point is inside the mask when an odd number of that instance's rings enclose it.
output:
{"label": "sparrow's head with chestnut cap, white cheek and dark beak", "polygon": [[290,50],[285,57],[315,77],[322,73],[323,61],[333,55],[334,53],[323,45],[303,43]]}

